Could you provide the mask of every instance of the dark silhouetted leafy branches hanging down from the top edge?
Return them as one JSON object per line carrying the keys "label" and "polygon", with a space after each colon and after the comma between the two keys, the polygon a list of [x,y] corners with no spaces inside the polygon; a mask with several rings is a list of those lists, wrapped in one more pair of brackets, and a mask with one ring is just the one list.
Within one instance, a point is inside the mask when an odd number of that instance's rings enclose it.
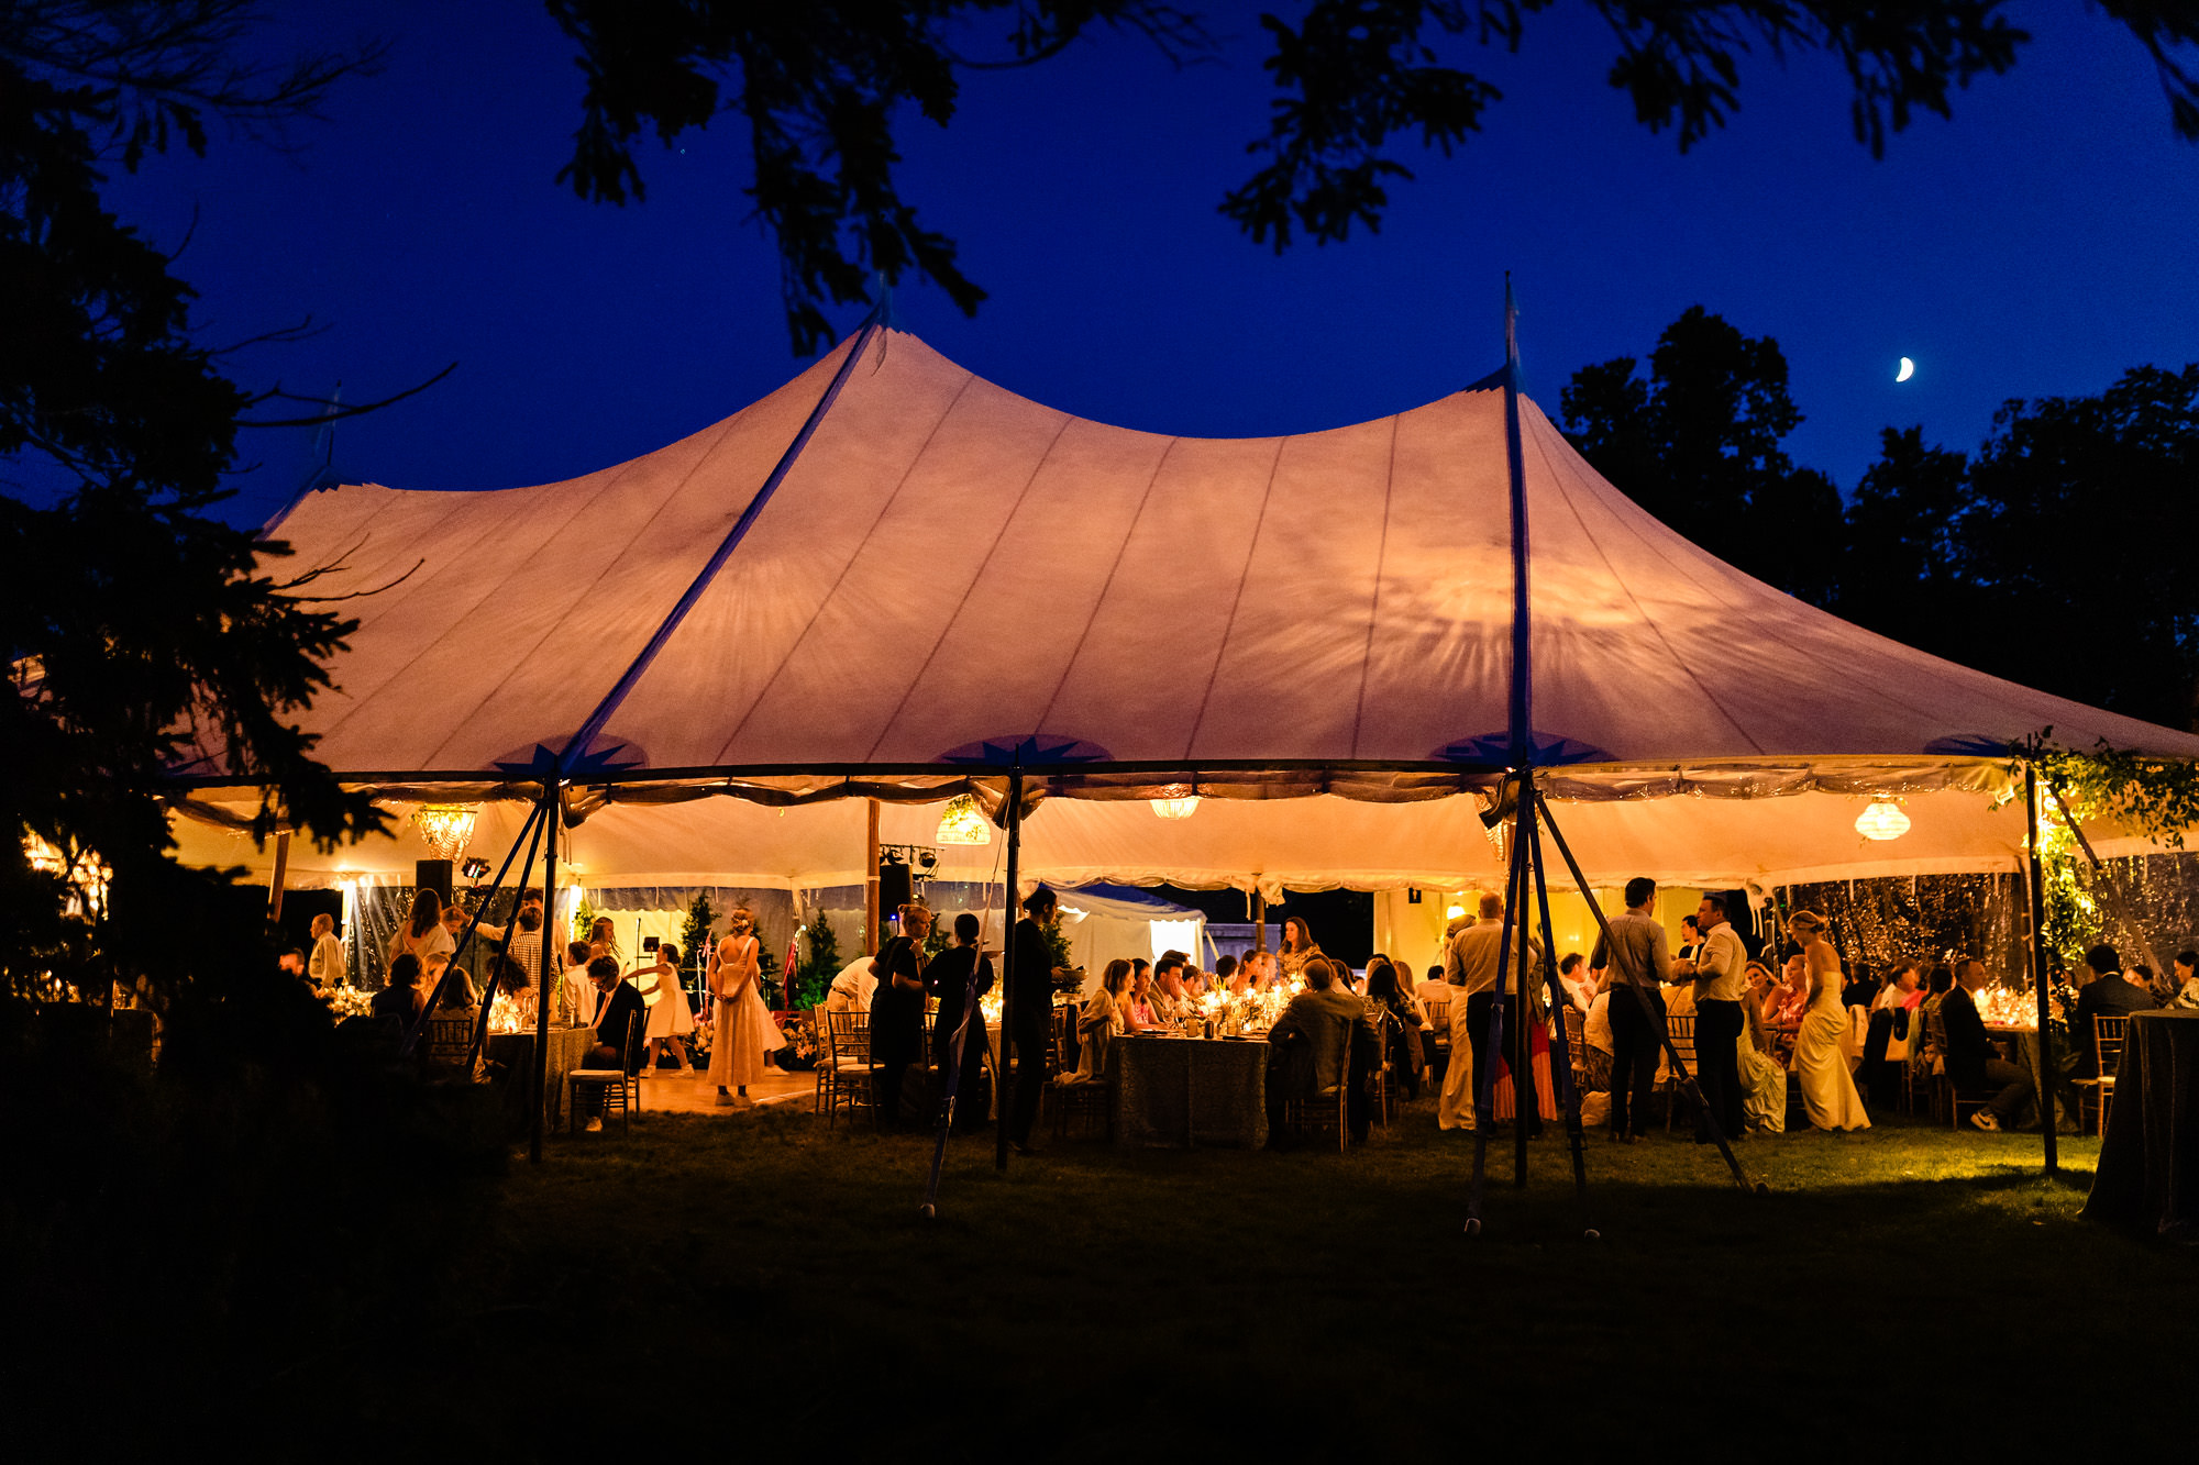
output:
{"label": "dark silhouetted leafy branches hanging down from the top edge", "polygon": [[[915,110],[948,125],[961,75],[1031,66],[1095,31],[1128,31],[1163,59],[1220,57],[1194,9],[1165,0],[545,0],[587,77],[572,161],[581,198],[642,198],[636,143],[673,143],[732,117],[750,154],[748,196],[781,257],[798,354],[831,339],[827,306],[871,299],[873,273],[930,279],[961,310],[985,293],[954,240],[917,220],[895,180],[897,128]],[[1449,156],[1502,90],[1458,66],[1489,46],[1520,51],[1528,18],[1559,0],[1300,0],[1260,15],[1275,99],[1249,154],[1251,178],[1220,211],[1253,242],[1339,242],[1379,229],[1414,150]],[[2027,33],[2003,0],[1572,0],[1603,20],[1612,88],[1680,150],[1742,106],[1753,57],[1823,55],[1849,84],[1856,139],[1885,154],[1918,112],[1953,114],[1953,92],[2014,66]],[[2175,130],[2199,141],[2199,13],[2186,0],[2102,0],[2153,57]]]}

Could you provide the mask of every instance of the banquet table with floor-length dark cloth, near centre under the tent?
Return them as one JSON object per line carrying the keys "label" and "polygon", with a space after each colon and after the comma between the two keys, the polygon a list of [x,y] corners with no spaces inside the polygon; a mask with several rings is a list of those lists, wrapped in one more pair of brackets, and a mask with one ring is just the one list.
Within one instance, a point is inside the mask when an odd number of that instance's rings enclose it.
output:
{"label": "banquet table with floor-length dark cloth, near centre under the tent", "polygon": [[1115,1043],[1115,1144],[1267,1144],[1267,1043],[1152,1038]]}

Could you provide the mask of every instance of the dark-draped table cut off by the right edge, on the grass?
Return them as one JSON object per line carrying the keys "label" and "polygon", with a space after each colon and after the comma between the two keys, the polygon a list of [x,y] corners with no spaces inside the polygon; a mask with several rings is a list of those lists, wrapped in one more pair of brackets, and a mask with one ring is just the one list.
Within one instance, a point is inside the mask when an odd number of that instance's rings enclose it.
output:
{"label": "dark-draped table cut off by the right edge, on the grass", "polygon": [[2085,1219],[2199,1243],[2199,1012],[2133,1012]]}

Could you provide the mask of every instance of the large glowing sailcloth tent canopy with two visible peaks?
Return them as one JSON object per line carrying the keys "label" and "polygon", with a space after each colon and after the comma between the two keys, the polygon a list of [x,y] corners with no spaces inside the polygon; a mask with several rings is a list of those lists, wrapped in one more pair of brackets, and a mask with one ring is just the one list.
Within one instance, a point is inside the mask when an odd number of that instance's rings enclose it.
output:
{"label": "large glowing sailcloth tent canopy with two visible peaks", "polygon": [[[1520,403],[1533,746],[1596,880],[2012,869],[2008,746],[2199,737],[1988,678],[1713,559]],[[484,805],[508,842],[565,785],[589,884],[816,886],[946,798],[1025,774],[1023,871],[1060,882],[1502,882],[1504,392],[1286,438],[1089,422],[869,326],[682,442],[534,488],[347,484],[270,526],[358,594],[303,717],[347,781]],[[1165,579],[1154,574],[1168,565]],[[185,856],[266,869],[220,750]],[[1148,798],[1201,796],[1161,820]],[[1465,796],[1460,796],[1465,794]],[[1865,847],[1856,814],[1913,820]],[[2096,829],[2107,851],[2120,831]],[[998,834],[994,834],[998,840]],[[409,875],[416,836],[290,880]],[[996,847],[943,847],[983,880]]]}

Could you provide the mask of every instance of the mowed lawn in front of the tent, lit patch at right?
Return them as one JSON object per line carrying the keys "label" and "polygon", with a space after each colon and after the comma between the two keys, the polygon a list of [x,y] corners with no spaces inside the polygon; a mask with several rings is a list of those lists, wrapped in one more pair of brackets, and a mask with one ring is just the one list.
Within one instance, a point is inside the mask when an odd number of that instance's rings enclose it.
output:
{"label": "mowed lawn in front of the tent, lit patch at right", "polygon": [[2098,1142],[2045,1179],[2038,1135],[1753,1139],[1772,1192],[1746,1194],[1684,1137],[1592,1135],[1594,1243],[1561,1135],[1524,1190],[1491,1146],[1465,1236],[1471,1153],[1427,1104],[1344,1157],[1093,1139],[998,1175],[957,1139],[924,1221],[926,1137],[644,1113],[515,1164],[418,1348],[556,1408],[387,1386],[424,1439],[512,1458],[616,1447],[605,1373],[649,1419],[899,1458],[2091,1458],[2188,1432],[2199,1256],[2078,1221]]}

